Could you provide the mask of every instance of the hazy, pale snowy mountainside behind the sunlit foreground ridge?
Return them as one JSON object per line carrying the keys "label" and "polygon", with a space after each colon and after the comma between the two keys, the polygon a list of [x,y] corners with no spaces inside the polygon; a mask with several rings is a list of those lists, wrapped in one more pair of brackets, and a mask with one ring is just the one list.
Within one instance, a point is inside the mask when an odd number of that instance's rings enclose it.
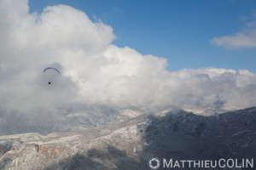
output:
{"label": "hazy, pale snowy mountainside behind the sunlit foreground ridge", "polygon": [[[142,115],[141,111],[111,108],[107,105],[90,105],[69,108],[60,114],[4,113],[0,117],[0,135],[17,133],[67,132],[70,130],[102,127]],[[79,109],[78,109],[79,108]]]}

